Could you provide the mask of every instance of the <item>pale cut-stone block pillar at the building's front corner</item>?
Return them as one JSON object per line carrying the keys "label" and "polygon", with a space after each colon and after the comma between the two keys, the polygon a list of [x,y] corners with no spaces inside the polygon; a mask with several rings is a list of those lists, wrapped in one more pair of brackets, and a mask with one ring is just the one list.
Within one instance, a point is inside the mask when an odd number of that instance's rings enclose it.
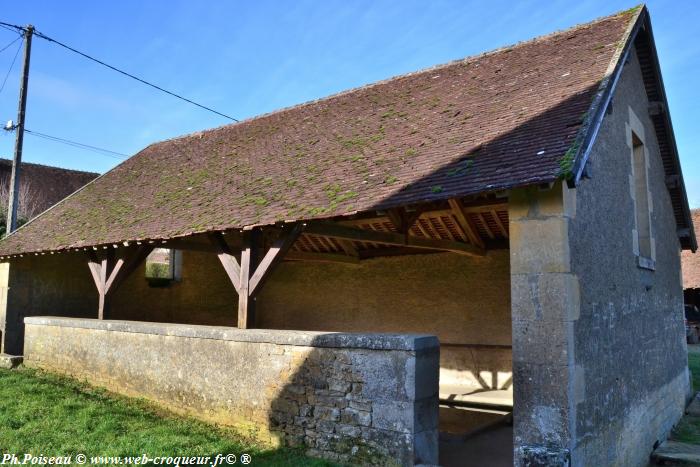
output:
{"label": "pale cut-stone block pillar at the building's front corner", "polygon": [[583,374],[573,361],[579,286],[571,272],[575,190],[509,198],[515,465],[570,465]]}

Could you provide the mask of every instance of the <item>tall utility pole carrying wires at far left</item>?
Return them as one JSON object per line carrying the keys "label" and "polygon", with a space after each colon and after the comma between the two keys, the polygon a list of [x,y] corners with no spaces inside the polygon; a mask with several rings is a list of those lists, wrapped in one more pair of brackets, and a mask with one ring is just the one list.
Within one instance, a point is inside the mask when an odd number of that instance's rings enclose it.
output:
{"label": "tall utility pole carrying wires at far left", "polygon": [[15,125],[15,155],[12,158],[12,176],[10,177],[10,196],[7,207],[7,235],[17,229],[17,205],[19,204],[19,177],[22,163],[22,144],[24,143],[24,114],[27,108],[27,86],[29,85],[29,59],[32,53],[32,35],[34,26],[27,25],[24,30],[24,62],[19,82],[19,109]]}

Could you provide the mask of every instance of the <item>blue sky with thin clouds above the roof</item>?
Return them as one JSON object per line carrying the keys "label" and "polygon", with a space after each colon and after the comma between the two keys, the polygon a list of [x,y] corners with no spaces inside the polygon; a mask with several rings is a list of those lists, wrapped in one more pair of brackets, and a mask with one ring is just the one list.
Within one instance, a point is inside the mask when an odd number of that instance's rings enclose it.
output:
{"label": "blue sky with thin clouds above the roof", "polygon": [[[651,1],[690,204],[700,207],[700,11]],[[512,44],[634,6],[626,1],[5,2],[0,20],[41,32],[236,118]],[[0,49],[16,36],[0,29]],[[17,49],[0,53],[0,84]],[[19,62],[0,93],[16,118]],[[26,126],[133,154],[227,123],[34,40]],[[14,137],[0,134],[0,156]],[[25,138],[24,160],[105,172],[119,159]]]}

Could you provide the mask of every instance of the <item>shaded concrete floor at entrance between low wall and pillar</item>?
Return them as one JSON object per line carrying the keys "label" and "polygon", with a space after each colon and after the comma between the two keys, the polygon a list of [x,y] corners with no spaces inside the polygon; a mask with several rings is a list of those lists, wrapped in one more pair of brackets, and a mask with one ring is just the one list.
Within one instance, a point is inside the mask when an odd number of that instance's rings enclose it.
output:
{"label": "shaded concrete floor at entrance between low wall and pillar", "polygon": [[443,467],[512,467],[513,427],[494,425],[462,437],[440,434]]}

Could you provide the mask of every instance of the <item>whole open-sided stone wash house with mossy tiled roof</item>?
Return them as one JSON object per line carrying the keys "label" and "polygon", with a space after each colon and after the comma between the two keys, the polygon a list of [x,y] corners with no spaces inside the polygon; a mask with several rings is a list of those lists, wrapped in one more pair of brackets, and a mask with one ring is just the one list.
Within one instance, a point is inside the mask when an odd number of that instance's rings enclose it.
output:
{"label": "whole open-sided stone wash house with mossy tiled roof", "polygon": [[490,409],[516,465],[641,466],[695,249],[640,7],[145,148],[0,242],[2,345],[330,459]]}

